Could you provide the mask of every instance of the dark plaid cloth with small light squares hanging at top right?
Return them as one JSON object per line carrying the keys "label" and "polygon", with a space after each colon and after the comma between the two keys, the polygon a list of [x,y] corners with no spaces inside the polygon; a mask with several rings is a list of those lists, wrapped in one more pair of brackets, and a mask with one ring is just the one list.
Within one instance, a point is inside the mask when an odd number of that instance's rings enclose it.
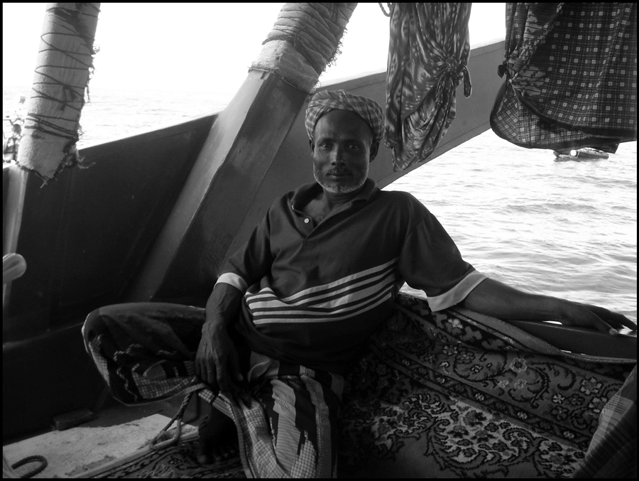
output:
{"label": "dark plaid cloth with small light squares hanging at top right", "polygon": [[506,82],[491,127],[526,148],[637,139],[636,4],[506,4]]}

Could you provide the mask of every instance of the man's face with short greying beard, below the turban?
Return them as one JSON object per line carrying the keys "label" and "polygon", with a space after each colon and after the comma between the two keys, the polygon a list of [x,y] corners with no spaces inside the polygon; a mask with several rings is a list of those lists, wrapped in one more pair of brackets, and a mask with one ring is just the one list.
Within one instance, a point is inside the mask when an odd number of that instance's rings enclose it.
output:
{"label": "man's face with short greying beard, below the turban", "polygon": [[377,154],[372,141],[370,127],[355,112],[332,110],[322,115],[310,141],[317,183],[332,194],[358,190],[368,176],[368,163]]}

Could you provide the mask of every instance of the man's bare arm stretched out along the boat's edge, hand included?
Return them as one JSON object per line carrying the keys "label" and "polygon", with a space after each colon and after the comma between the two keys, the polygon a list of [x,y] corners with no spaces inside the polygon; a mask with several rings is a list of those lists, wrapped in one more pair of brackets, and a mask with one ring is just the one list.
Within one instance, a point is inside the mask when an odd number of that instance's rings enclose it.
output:
{"label": "man's bare arm stretched out along the boat's edge, hand included", "polygon": [[503,320],[557,320],[611,335],[624,327],[637,330],[637,325],[625,315],[589,304],[525,293],[494,279],[479,283],[461,305]]}

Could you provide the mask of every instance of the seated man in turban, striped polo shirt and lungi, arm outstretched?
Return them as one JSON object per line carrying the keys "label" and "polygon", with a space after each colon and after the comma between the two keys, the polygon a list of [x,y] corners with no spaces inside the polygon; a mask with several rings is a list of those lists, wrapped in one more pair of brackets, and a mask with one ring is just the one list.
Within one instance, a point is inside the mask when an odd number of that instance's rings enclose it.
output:
{"label": "seated man in turban, striped polo shirt and lungi, arm outstretched", "polygon": [[[404,281],[425,291],[432,310],[461,304],[503,319],[554,319],[606,333],[636,329],[606,309],[523,293],[486,278],[461,259],[437,219],[413,196],[376,188],[367,178],[368,163],[381,141],[383,112],[371,99],[343,90],[319,92],[305,124],[317,182],[275,200],[222,268],[205,313],[153,304],[132,313],[129,305],[92,313],[85,325],[98,365],[102,358],[105,365],[111,362],[101,352],[131,346],[130,339],[109,338],[107,323],[143,332],[131,337],[147,346],[145,352],[163,349],[178,357],[179,351],[192,359],[199,342],[195,374],[224,393],[214,405],[229,416],[212,409],[201,426],[201,463],[231,455],[228,440],[239,433],[245,469],[253,474],[335,475],[343,376],[392,315]],[[171,315],[179,317],[178,325],[170,324]],[[194,340],[197,325],[202,336]],[[170,340],[149,341],[152,330]],[[129,347],[124,357],[139,359]],[[127,369],[138,372],[127,378],[131,383],[146,385],[158,358],[133,369],[120,360],[104,368],[105,378],[126,396],[134,391],[119,380],[129,376]],[[163,372],[170,371],[163,362]],[[115,371],[120,377],[109,377]],[[152,399],[153,389],[139,395]]]}

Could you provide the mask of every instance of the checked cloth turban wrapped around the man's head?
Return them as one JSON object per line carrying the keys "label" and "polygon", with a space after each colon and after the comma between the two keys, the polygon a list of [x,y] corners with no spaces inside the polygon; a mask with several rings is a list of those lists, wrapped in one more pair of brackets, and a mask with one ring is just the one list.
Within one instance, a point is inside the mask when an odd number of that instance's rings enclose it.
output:
{"label": "checked cloth turban wrapped around the man's head", "polygon": [[313,139],[315,124],[331,110],[349,110],[361,117],[373,132],[373,144],[381,141],[384,129],[384,113],[374,100],[350,94],[346,90],[322,90],[313,95],[306,109],[305,126],[309,139]]}

